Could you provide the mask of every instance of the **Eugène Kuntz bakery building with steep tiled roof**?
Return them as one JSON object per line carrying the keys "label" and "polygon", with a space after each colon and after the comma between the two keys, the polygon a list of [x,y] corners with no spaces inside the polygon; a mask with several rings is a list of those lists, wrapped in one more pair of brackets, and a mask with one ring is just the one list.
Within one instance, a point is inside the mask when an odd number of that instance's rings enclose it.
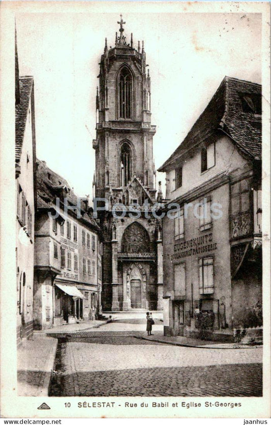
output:
{"label": "Eug\u00e8ne Kuntz bakery building with steep tiled roof", "polygon": [[257,336],[261,86],[225,77],[159,171],[178,205],[163,218],[165,335],[231,340],[246,328]]}

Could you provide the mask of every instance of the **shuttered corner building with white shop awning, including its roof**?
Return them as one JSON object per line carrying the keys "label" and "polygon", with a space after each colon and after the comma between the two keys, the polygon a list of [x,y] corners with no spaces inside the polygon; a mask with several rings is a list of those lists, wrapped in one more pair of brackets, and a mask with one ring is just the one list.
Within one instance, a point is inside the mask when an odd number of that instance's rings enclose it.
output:
{"label": "shuttered corner building with white shop awning, including its roof", "polygon": [[37,160],[34,327],[93,320],[101,312],[99,226],[88,200]]}

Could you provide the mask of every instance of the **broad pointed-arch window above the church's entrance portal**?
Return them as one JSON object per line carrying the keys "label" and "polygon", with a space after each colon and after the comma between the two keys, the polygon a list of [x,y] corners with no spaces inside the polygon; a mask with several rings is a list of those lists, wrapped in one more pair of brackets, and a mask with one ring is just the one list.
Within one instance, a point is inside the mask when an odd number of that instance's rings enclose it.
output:
{"label": "broad pointed-arch window above the church's entrance portal", "polygon": [[149,252],[149,236],[137,221],[126,227],[122,238],[122,252]]}

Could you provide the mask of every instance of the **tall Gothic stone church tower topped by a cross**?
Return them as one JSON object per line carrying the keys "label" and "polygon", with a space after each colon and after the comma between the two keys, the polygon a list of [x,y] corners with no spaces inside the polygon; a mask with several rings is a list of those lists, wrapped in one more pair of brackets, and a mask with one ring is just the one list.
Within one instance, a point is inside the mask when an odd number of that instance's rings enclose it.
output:
{"label": "tall Gothic stone church tower topped by a cross", "polygon": [[[96,97],[94,197],[106,199],[103,230],[103,310],[162,309],[161,223],[156,203],[150,77],[144,42],[105,39]],[[147,69],[147,71],[146,71]],[[98,206],[104,206],[103,201]]]}

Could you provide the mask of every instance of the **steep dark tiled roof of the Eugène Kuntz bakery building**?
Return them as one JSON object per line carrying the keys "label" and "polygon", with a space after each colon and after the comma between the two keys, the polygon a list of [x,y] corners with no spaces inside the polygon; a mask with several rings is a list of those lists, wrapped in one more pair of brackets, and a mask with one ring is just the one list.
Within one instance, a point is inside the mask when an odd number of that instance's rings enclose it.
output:
{"label": "steep dark tiled roof of the Eug\u00e8ne Kuntz bakery building", "polygon": [[[244,112],[244,96],[261,96],[261,85],[225,77],[186,138],[158,171],[175,166],[183,153],[220,129],[246,156],[261,158],[261,115]],[[172,166],[172,167],[171,167]]]}

